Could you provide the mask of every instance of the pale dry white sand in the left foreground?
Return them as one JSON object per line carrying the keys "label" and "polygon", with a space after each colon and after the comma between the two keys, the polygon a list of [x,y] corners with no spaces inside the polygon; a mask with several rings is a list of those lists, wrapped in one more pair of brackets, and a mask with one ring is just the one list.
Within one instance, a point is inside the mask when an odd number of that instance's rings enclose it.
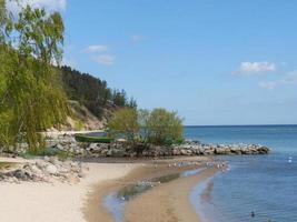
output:
{"label": "pale dry white sand in the left foreground", "polygon": [[88,163],[78,184],[0,183],[0,222],[81,222],[81,209],[96,183],[120,178],[136,165]]}

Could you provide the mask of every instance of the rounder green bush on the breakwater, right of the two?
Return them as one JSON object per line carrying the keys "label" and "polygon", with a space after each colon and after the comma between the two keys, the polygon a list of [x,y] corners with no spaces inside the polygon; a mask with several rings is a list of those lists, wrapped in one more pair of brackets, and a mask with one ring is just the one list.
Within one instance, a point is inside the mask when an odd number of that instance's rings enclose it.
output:
{"label": "rounder green bush on the breakwater, right of the two", "polygon": [[154,144],[171,144],[182,139],[182,119],[177,112],[155,109],[147,119],[148,141]]}

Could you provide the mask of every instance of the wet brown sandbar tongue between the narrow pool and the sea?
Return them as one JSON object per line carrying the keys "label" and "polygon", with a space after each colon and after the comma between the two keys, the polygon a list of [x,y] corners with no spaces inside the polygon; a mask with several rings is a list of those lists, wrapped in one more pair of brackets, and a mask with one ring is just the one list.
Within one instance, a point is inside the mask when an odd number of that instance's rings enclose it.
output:
{"label": "wet brown sandbar tongue between the narrow pool and the sea", "polygon": [[161,184],[137,196],[127,204],[125,221],[199,222],[199,218],[189,202],[189,193],[195,184],[216,172],[217,168],[210,168],[197,175]]}

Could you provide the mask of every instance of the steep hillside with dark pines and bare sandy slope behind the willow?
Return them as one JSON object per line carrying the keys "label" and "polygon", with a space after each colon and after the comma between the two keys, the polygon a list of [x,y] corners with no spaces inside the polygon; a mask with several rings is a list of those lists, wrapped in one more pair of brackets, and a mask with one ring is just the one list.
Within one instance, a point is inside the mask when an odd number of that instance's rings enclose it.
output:
{"label": "steep hillside with dark pines and bare sandy slope behind the willow", "polygon": [[68,130],[102,129],[116,109],[137,107],[125,90],[112,90],[105,80],[89,73],[61,67],[61,79],[72,111],[66,125]]}

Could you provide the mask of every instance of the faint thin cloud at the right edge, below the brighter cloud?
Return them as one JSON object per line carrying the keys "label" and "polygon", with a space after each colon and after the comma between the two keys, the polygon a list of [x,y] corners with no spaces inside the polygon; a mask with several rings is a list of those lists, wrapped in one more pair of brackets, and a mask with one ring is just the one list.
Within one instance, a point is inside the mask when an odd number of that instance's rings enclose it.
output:
{"label": "faint thin cloud at the right edge, below the brighter cloud", "polygon": [[287,73],[284,78],[274,80],[274,81],[267,81],[267,82],[259,82],[259,85],[264,89],[274,90],[278,85],[284,84],[297,84],[297,70]]}

